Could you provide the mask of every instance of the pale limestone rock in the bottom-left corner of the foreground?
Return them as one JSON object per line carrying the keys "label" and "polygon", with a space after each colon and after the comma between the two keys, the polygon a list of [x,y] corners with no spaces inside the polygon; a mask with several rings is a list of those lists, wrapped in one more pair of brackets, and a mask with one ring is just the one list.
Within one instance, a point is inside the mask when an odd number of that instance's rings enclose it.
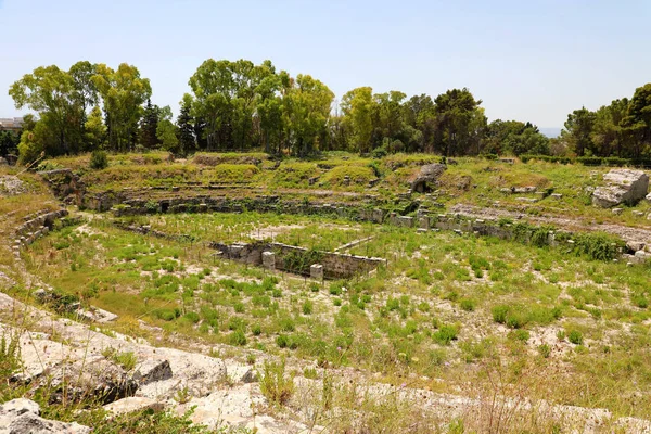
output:
{"label": "pale limestone rock in the bottom-left corner of the foreground", "polygon": [[0,434],[87,434],[90,427],[76,422],[43,419],[40,407],[29,399],[13,399],[0,406]]}

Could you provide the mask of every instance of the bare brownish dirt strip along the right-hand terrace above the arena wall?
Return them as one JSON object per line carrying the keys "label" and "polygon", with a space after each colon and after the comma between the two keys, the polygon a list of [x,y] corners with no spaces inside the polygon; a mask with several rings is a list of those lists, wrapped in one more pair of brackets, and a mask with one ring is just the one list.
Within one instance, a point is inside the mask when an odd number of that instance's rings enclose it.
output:
{"label": "bare brownish dirt strip along the right-hand terrace above the arena wall", "polygon": [[495,218],[512,218],[514,220],[523,219],[539,225],[553,225],[559,228],[572,231],[602,231],[617,235],[625,241],[643,242],[651,245],[651,227],[634,228],[629,226],[603,224],[593,225],[589,221],[578,218],[553,217],[553,216],[528,216],[526,214],[511,212],[500,208],[482,208],[474,205],[457,204],[450,208],[454,214],[460,214],[465,217],[495,219]]}

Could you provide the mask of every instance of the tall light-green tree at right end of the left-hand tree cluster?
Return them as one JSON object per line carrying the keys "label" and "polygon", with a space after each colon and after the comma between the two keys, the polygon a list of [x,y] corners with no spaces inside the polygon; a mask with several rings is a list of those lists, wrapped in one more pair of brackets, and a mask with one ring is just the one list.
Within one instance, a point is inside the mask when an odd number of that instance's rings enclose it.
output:
{"label": "tall light-green tree at right end of the left-hand tree cluster", "polygon": [[92,82],[102,98],[108,146],[115,151],[132,150],[142,104],[152,95],[150,80],[141,78],[136,66],[123,63],[117,71],[104,64],[97,65]]}

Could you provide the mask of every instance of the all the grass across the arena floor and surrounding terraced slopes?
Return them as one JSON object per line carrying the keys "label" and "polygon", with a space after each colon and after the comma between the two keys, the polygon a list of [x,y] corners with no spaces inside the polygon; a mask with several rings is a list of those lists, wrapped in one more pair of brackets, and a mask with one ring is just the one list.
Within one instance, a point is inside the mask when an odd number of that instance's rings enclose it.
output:
{"label": "all the grass across the arena floor and surrounding terraced slopes", "polygon": [[[373,194],[393,197],[391,194],[406,188],[408,179],[418,173],[421,157],[379,159],[381,182],[372,189]],[[369,158],[345,154],[314,162],[283,161],[275,170],[272,162],[264,158],[256,164],[233,156],[201,167],[155,158],[144,158],[138,164],[129,158],[115,158],[110,157],[107,169],[85,175],[91,182],[105,182],[93,188],[120,188],[131,176],[137,186],[158,187],[187,181],[207,184],[221,177],[228,182],[246,180],[256,188],[273,180],[269,190],[333,188],[335,192],[355,192],[366,182],[366,176],[371,173],[373,178],[376,176],[375,169],[368,167]],[[460,203],[489,206],[500,201],[508,208],[522,203],[499,192],[499,188],[535,183],[539,189],[562,192],[564,202],[546,197],[527,205],[527,213],[584,218],[593,215],[603,222],[615,219],[610,212],[587,205],[583,192],[585,187],[600,183],[603,168],[547,163],[507,168],[499,163],[470,158],[460,158],[458,163],[449,166],[442,180],[442,189],[450,194],[419,199],[448,207]],[[591,170],[597,170],[597,176],[591,176]],[[366,174],[361,181],[350,177],[350,186],[340,183],[343,174],[356,171]],[[458,189],[457,182],[464,176],[471,176],[471,186],[477,187]],[[37,178],[22,177],[30,182],[33,194],[0,199],[0,215],[1,212],[8,215],[0,220],[5,231],[29,213],[56,206],[53,201],[48,203],[51,197]],[[310,184],[311,177],[319,180]],[[634,209],[646,210],[648,205],[626,208],[624,216],[616,219],[639,224],[634,220]],[[14,210],[17,212],[10,214]],[[233,352],[260,350],[272,359],[286,357],[292,366],[318,367],[318,370],[310,368],[314,372],[303,369],[298,372],[321,381],[315,393],[319,403],[329,403],[328,408],[347,405],[352,409],[350,414],[342,413],[336,426],[352,426],[346,425],[353,422],[346,422],[345,416],[352,417],[354,409],[365,411],[359,423],[371,432],[387,424],[409,431],[391,414],[398,412],[408,419],[406,416],[416,411],[391,396],[370,400],[358,395],[353,385],[321,380],[322,369],[340,367],[373,374],[376,381],[396,386],[409,382],[410,386],[459,393],[471,384],[469,395],[480,391],[484,393],[482,396],[511,397],[524,396],[516,392],[522,390],[532,399],[602,407],[616,416],[651,413],[651,395],[647,392],[651,386],[648,352],[651,269],[649,265],[626,267],[624,263],[588,258],[595,245],[609,242],[586,242],[586,254],[576,256],[548,248],[544,243],[524,245],[472,234],[417,233],[387,225],[245,209],[238,214],[123,219],[151,225],[152,229],[170,234],[188,234],[182,241],[123,231],[105,216],[93,217],[85,224],[85,230],[75,226],[60,228],[26,247],[22,257],[27,270],[54,286],[62,296],[117,314],[119,319],[106,326],[106,333],[117,331],[151,337],[152,332],[139,326],[139,321],[144,321],[161,328],[159,337],[169,345],[183,345],[179,341],[230,345],[235,348]],[[345,281],[311,282],[212,257],[213,252],[205,245],[208,241],[258,238],[329,251],[369,239],[347,252],[385,258],[387,266]],[[9,245],[0,248],[3,248],[0,265],[13,269]],[[18,278],[18,275],[11,276]],[[26,295],[31,290],[16,285],[11,291]],[[173,341],[169,336],[180,339]],[[11,352],[4,350],[8,353]],[[258,358],[267,360],[267,355]],[[137,360],[119,355],[118,362],[127,368]],[[298,399],[297,390],[291,390],[293,373],[279,365],[264,369],[268,369],[261,376],[268,378],[265,387],[269,401],[275,407],[292,409]],[[416,380],[412,384],[412,380],[406,379]],[[323,418],[321,421],[328,411],[319,417]],[[373,411],[375,419],[369,416]],[[481,409],[477,419],[499,420],[495,411],[495,408]],[[167,416],[132,418],[152,421]],[[130,422],[119,423],[129,426]],[[495,429],[493,422],[477,423],[460,418],[449,426],[477,432]],[[511,426],[506,421],[500,423]],[[434,423],[429,425],[430,431],[423,427],[423,432],[435,432],[433,426],[442,425]]]}

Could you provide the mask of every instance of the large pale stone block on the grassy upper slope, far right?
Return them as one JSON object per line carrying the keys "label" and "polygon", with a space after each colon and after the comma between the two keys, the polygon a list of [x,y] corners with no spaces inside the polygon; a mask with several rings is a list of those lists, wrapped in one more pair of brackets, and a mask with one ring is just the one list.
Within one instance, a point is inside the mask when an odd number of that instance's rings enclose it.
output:
{"label": "large pale stone block on the grassy upper slope, far right", "polygon": [[613,169],[603,176],[608,183],[592,193],[592,204],[611,208],[618,204],[635,205],[647,195],[649,176],[642,170]]}

